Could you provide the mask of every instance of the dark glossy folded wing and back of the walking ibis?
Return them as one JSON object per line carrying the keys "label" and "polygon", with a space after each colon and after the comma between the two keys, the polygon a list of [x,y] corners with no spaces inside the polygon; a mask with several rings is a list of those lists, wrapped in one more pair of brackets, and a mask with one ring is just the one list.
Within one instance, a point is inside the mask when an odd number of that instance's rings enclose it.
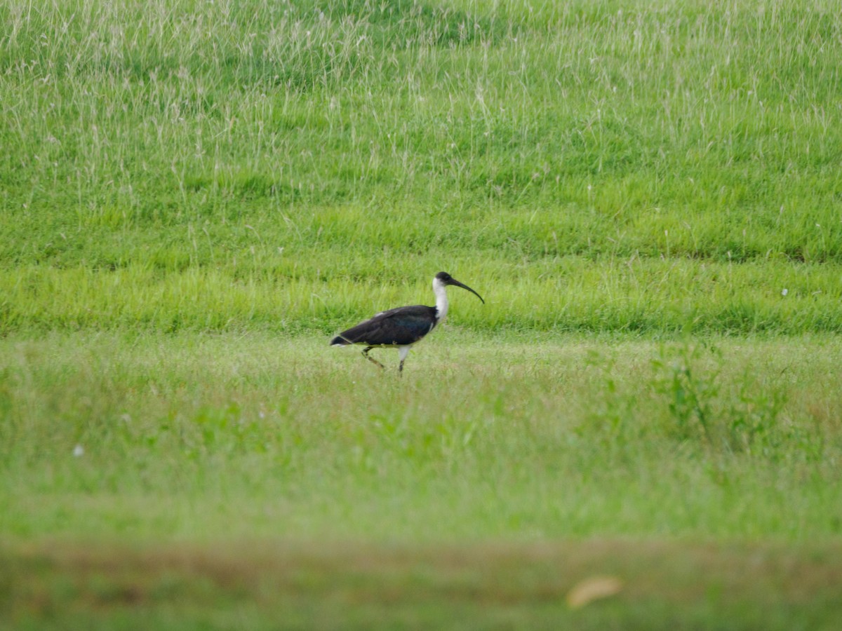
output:
{"label": "dark glossy folded wing and back of the walking ibis", "polygon": [[378,313],[370,320],[342,331],[331,344],[386,346],[412,344],[433,330],[435,307],[413,305]]}

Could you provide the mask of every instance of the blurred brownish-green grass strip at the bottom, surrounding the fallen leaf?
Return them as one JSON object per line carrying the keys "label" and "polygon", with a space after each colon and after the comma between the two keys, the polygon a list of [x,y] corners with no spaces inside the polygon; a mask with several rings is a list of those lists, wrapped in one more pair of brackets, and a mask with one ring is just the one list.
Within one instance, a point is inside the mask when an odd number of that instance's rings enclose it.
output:
{"label": "blurred brownish-green grass strip at the bottom, surrounding the fallen leaf", "polygon": [[[838,544],[0,545],[13,628],[834,628]],[[584,581],[616,593],[571,607]],[[136,628],[136,627],[135,627]]]}

